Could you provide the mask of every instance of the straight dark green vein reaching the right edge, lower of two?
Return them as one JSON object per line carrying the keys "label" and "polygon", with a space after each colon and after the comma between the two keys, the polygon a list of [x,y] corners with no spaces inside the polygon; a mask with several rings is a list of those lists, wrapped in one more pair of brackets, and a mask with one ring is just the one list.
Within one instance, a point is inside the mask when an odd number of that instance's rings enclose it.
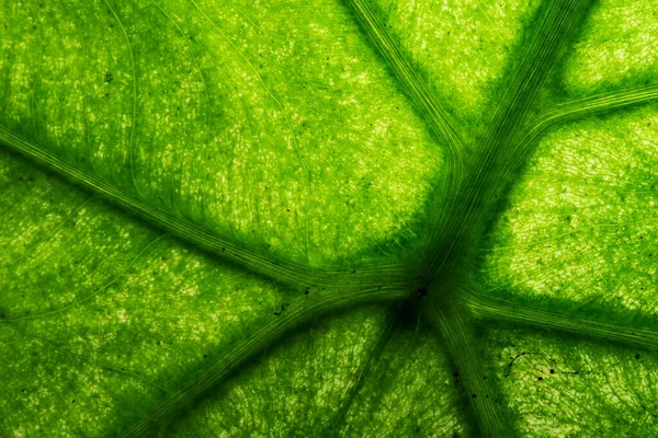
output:
{"label": "straight dark green vein reaching the right edge, lower of two", "polygon": [[593,321],[570,313],[515,306],[506,300],[463,291],[466,306],[483,319],[553,328],[648,348],[658,347],[658,331]]}

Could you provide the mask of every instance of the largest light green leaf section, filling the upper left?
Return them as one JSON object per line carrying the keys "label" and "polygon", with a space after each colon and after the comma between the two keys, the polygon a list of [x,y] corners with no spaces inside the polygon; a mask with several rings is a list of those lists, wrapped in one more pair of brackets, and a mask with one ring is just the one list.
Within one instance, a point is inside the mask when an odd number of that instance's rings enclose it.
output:
{"label": "largest light green leaf section, filling the upper left", "polygon": [[389,254],[441,154],[344,7],[7,3],[0,124],[223,237]]}

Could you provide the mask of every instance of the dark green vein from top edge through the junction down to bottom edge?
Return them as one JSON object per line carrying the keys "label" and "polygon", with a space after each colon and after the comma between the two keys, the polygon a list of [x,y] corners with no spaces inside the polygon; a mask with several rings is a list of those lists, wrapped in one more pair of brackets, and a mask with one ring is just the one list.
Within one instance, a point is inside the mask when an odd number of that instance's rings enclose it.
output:
{"label": "dark green vein from top edge through the junction down to bottom edge", "polygon": [[[537,26],[530,45],[520,58],[508,91],[501,100],[489,129],[476,148],[473,172],[460,187],[458,208],[451,208],[447,223],[435,223],[430,231],[427,272],[422,277],[431,285],[424,303],[426,314],[442,334],[453,360],[463,373],[464,385],[472,395],[470,402],[487,437],[502,437],[502,412],[494,402],[480,358],[475,350],[475,322],[468,309],[455,307],[460,290],[455,288],[460,268],[468,266],[468,251],[486,229],[488,218],[497,206],[499,175],[506,174],[509,163],[502,161],[513,148],[517,132],[523,126],[535,102],[540,88],[555,64],[560,48],[569,42],[579,23],[587,15],[590,0],[559,0],[546,3],[537,12]],[[525,157],[523,157],[525,158]],[[521,162],[523,160],[520,160]],[[502,182],[506,188],[510,181]],[[463,206],[463,207],[462,207]],[[456,207],[456,206],[455,206]],[[466,258],[463,258],[466,257]],[[464,263],[460,265],[460,263]],[[457,268],[456,270],[453,270]]]}

